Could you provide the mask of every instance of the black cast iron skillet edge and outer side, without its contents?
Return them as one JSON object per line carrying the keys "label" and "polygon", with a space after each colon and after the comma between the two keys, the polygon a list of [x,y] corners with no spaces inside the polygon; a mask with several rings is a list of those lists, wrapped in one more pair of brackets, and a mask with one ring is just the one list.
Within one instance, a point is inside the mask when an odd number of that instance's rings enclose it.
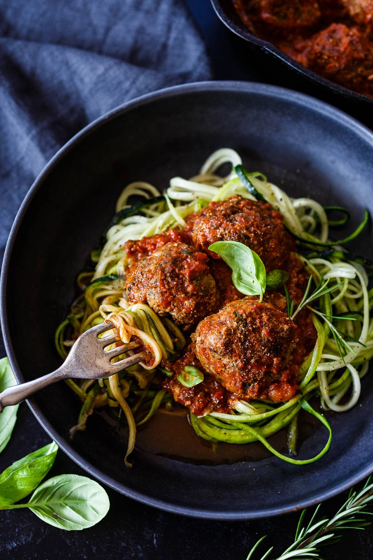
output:
{"label": "black cast iron skillet edge and outer side, without its contents", "polygon": [[[236,35],[242,37],[248,41],[248,43],[252,46],[253,54],[258,54],[260,52],[266,53],[272,59],[276,59],[278,63],[285,63],[287,66],[292,68],[295,72],[302,74],[305,78],[309,81],[316,82],[319,86],[322,86],[324,90],[333,91],[334,94],[337,94],[342,99],[350,102],[350,109],[351,104],[356,104],[358,106],[365,105],[366,110],[371,110],[373,106],[373,97],[368,97],[367,95],[358,94],[355,91],[349,90],[347,87],[340,86],[337,83],[331,82],[327,80],[327,78],[323,78],[312,72],[308,68],[305,68],[292,58],[288,57],[285,53],[283,53],[277,46],[268,43],[268,41],[264,41],[263,39],[259,39],[258,37],[252,35],[247,27],[243,24],[240,20],[237,12],[234,9],[232,0],[211,0],[211,4],[213,4],[213,8],[216,14],[219,16],[220,20]],[[267,62],[269,62],[267,57]],[[268,68],[270,70],[270,67]]]}

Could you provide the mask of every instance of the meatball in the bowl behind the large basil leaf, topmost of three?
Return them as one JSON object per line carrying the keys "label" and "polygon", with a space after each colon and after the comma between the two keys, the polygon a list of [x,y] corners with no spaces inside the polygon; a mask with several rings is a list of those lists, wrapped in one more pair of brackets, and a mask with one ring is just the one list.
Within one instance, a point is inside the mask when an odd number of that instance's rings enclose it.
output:
{"label": "meatball in the bowl behind the large basil leaf, topmost of three", "polygon": [[285,231],[282,217],[270,204],[234,196],[186,218],[185,233],[193,245],[213,259],[221,257],[209,251],[215,241],[239,241],[255,251],[267,270],[281,268],[295,241]]}

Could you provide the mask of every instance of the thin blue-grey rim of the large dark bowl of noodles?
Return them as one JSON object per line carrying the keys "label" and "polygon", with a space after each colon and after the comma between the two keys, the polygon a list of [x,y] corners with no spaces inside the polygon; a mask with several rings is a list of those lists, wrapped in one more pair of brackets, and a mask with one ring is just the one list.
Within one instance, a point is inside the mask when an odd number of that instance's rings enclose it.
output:
{"label": "thin blue-grey rim of the large dark bowl of noodles", "polygon": [[[134,100],[125,102],[122,105],[117,106],[116,108],[108,111],[108,113],[98,117],[97,119],[93,120],[92,123],[88,124],[84,127],[80,132],[75,134],[67,143],[62,146],[56,152],[56,154],[51,158],[49,163],[44,167],[44,169],[40,172],[37,176],[34,183],[31,185],[29,191],[26,194],[25,199],[21,204],[20,209],[17,212],[15,217],[15,221],[13,222],[10,236],[8,237],[4,259],[3,259],[3,266],[1,271],[1,279],[0,279],[0,320],[1,320],[1,328],[4,337],[4,346],[6,348],[7,356],[10,360],[11,367],[13,372],[15,373],[15,377],[18,383],[24,381],[22,373],[17,363],[17,359],[15,356],[15,352],[13,350],[13,345],[10,339],[10,332],[8,328],[8,320],[7,320],[7,300],[6,300],[6,292],[7,292],[7,274],[8,268],[10,265],[11,253],[13,244],[16,239],[16,235],[18,229],[21,225],[22,218],[29,207],[32,198],[36,194],[37,190],[39,190],[40,186],[43,185],[44,179],[49,175],[51,170],[55,167],[56,164],[64,157],[65,153],[68,153],[70,150],[77,145],[82,138],[86,137],[90,134],[93,130],[100,128],[103,123],[106,123],[112,119],[115,119],[117,116],[124,114],[134,108],[138,108],[141,105],[152,103],[153,101],[161,100],[167,97],[178,96],[183,94],[193,94],[195,92],[244,92],[247,94],[261,94],[266,96],[275,97],[276,99],[284,99],[287,101],[295,102],[296,104],[301,104],[306,106],[308,109],[313,109],[318,113],[327,115],[329,118],[335,119],[339,124],[345,125],[347,128],[350,128],[358,134],[362,139],[369,142],[372,145],[373,150],[373,133],[364,125],[359,123],[357,120],[353,119],[351,116],[343,113],[343,111],[334,108],[333,106],[314,99],[309,95],[300,94],[298,92],[288,90],[283,87],[278,86],[271,86],[263,83],[256,83],[256,82],[240,82],[240,81],[211,81],[211,82],[194,82],[194,83],[187,83],[184,85],[172,86],[168,88],[164,88],[162,90],[158,90],[152,92],[150,94],[146,94],[140,97],[137,97]],[[344,480],[343,482],[337,484],[333,488],[330,488],[327,492],[319,492],[314,496],[309,497],[307,500],[303,500],[301,502],[292,501],[289,505],[280,507],[263,507],[261,510],[257,511],[250,511],[249,508],[247,511],[213,511],[209,510],[208,508],[195,508],[190,506],[179,506],[174,503],[169,503],[168,501],[159,500],[157,498],[148,497],[146,494],[141,492],[135,491],[125,484],[118,482],[117,480],[107,476],[103,473],[100,469],[93,466],[89,463],[88,460],[84,459],[77,451],[75,451],[71,445],[68,444],[64,440],[64,438],[55,430],[55,428],[51,425],[48,419],[44,416],[42,410],[39,406],[35,403],[34,399],[29,399],[26,401],[29,405],[31,412],[34,414],[37,421],[41,424],[44,428],[46,433],[58,444],[60,449],[62,449],[65,454],[69,456],[77,465],[79,465],[82,469],[86,470],[87,473],[95,477],[96,479],[100,480],[103,484],[106,484],[110,488],[124,494],[129,498],[133,498],[134,500],[144,503],[145,505],[153,506],[159,508],[160,510],[164,510],[167,512],[172,512],[174,514],[182,514],[190,517],[199,517],[201,519],[216,519],[216,520],[248,520],[248,519],[259,519],[261,517],[268,517],[268,516],[275,516],[285,513],[290,513],[299,510],[300,508],[309,507],[315,505],[316,503],[322,502],[336,496],[354,484],[360,482],[362,479],[366,478],[373,472],[373,457],[370,466],[361,469],[359,472],[356,472],[353,477]]]}

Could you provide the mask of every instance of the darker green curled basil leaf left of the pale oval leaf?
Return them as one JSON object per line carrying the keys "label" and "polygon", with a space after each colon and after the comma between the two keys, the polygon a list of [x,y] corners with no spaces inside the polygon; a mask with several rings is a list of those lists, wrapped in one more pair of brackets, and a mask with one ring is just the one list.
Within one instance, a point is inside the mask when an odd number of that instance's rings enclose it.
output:
{"label": "darker green curled basil leaf left of the pale oval leaf", "polygon": [[18,502],[35,490],[51,469],[57,451],[53,441],[8,466],[0,475],[0,506]]}

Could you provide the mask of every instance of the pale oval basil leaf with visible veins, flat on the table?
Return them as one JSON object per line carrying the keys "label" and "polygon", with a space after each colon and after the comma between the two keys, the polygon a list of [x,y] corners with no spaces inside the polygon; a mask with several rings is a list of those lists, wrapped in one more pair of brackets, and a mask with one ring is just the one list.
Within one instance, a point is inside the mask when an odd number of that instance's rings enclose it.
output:
{"label": "pale oval basil leaf with visible veins, flat on the table", "polygon": [[94,480],[61,474],[36,488],[25,506],[49,525],[79,531],[101,521],[110,503],[105,490]]}

